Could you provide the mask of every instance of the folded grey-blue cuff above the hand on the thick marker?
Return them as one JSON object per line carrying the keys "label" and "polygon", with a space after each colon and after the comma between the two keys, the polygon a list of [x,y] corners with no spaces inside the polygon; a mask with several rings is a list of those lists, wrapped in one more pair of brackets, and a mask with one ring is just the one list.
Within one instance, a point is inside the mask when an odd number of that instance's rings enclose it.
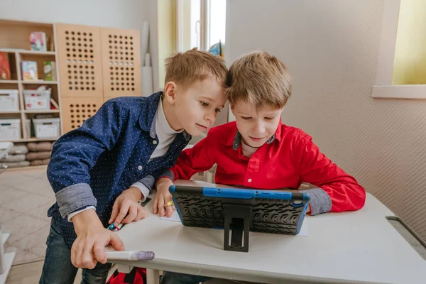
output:
{"label": "folded grey-blue cuff above the hand on the thick marker", "polygon": [[78,209],[87,206],[97,205],[97,200],[93,196],[92,187],[86,183],[77,183],[55,193],[56,202],[59,205],[59,212],[62,218]]}

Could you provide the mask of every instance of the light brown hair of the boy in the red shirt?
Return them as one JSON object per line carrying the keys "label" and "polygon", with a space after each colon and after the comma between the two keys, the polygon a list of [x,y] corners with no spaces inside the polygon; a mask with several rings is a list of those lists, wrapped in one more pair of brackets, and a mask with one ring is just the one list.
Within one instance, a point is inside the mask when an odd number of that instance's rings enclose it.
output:
{"label": "light brown hair of the boy in the red shirt", "polygon": [[281,109],[291,95],[292,79],[278,58],[255,51],[232,63],[226,84],[226,98],[231,105],[243,100],[256,109],[265,104]]}

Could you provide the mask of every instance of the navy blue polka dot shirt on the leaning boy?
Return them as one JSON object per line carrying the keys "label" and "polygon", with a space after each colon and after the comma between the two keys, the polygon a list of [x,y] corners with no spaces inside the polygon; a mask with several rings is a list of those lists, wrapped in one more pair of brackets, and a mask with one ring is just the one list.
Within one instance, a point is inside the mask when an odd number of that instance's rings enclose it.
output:
{"label": "navy blue polka dot shirt on the leaning boy", "polygon": [[165,155],[149,161],[158,145],[155,111],[161,94],[111,99],[53,146],[48,180],[57,202],[48,216],[60,222],[69,248],[77,236],[68,214],[94,206],[108,226],[116,197],[137,181],[152,188],[190,141],[188,133],[178,133]]}

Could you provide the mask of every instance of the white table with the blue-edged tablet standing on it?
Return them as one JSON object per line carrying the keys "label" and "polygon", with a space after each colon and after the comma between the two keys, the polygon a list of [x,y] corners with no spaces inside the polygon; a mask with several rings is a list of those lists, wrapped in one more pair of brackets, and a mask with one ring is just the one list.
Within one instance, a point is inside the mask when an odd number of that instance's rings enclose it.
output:
{"label": "white table with the blue-edged tablet standing on it", "polygon": [[386,216],[393,213],[368,194],[357,212],[307,217],[308,237],[251,232],[249,253],[241,253],[224,251],[223,230],[151,214],[119,236],[126,251],[154,251],[155,259],[117,263],[151,268],[153,278],[164,270],[261,283],[426,283],[426,261]]}

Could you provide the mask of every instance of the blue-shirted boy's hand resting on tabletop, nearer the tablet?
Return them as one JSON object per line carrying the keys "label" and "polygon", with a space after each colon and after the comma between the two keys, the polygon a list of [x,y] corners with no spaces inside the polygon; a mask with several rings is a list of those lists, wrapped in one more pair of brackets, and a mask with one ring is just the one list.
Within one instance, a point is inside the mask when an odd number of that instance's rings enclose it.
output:
{"label": "blue-shirted boy's hand resting on tabletop, nearer the tablet", "polygon": [[114,222],[114,226],[119,226],[120,223],[129,224],[147,217],[148,210],[138,203],[138,200],[141,199],[142,193],[137,187],[130,187],[129,190],[121,192],[121,195],[114,202],[108,223]]}

